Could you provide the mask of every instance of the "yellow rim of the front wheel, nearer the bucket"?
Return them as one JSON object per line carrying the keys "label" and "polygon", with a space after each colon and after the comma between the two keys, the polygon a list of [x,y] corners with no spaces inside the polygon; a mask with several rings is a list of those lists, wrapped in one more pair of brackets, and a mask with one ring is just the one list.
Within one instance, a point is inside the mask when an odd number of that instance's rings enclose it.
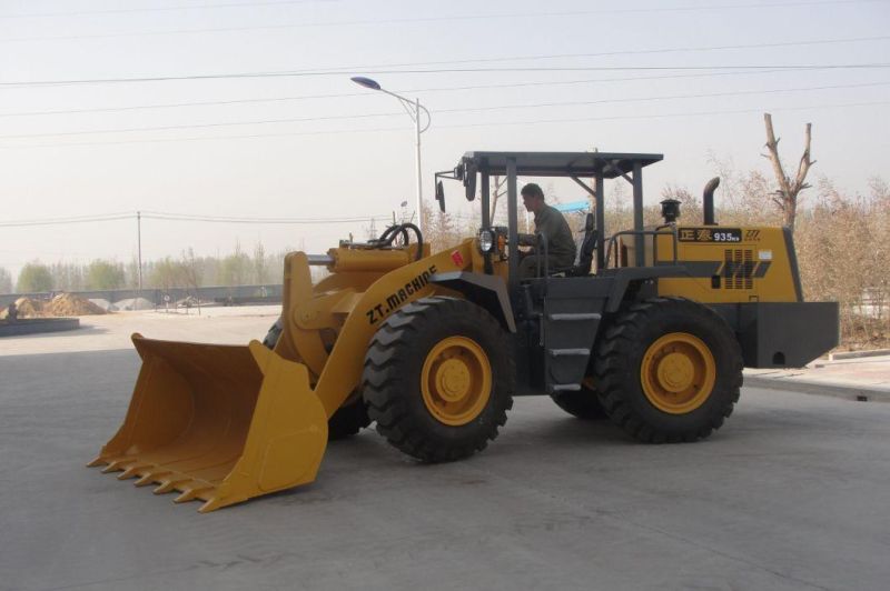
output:
{"label": "yellow rim of the front wheel, nearer the bucket", "polygon": [[443,339],[426,355],[421,391],[426,409],[437,421],[454,427],[471,422],[491,398],[488,355],[473,339]]}

